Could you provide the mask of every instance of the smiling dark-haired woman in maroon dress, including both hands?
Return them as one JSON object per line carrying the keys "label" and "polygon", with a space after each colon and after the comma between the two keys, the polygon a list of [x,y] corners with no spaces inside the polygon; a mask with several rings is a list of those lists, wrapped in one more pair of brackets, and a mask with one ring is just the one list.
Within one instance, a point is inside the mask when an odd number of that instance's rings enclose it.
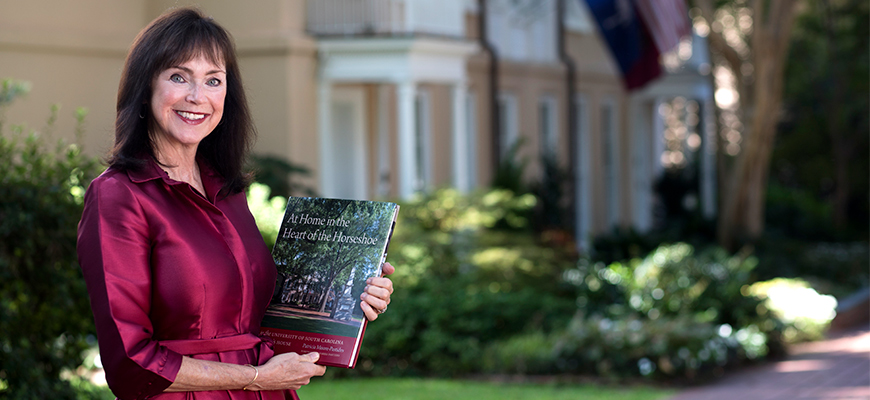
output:
{"label": "smiling dark-haired woman in maroon dress, including both hands", "polygon": [[[88,188],[78,236],[119,398],[297,398],[325,372],[316,353],[274,355],[258,336],[276,269],[245,200],[252,135],[223,28],[183,8],[139,34],[109,168]],[[360,303],[369,320],[392,291],[387,278],[369,281]]]}

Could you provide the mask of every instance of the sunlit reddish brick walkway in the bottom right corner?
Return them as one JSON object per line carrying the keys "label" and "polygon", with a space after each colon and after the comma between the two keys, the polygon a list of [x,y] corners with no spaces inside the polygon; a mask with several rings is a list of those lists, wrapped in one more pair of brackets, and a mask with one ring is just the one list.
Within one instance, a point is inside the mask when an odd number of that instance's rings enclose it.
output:
{"label": "sunlit reddish brick walkway in the bottom right corner", "polygon": [[793,347],[789,357],[740,371],[670,400],[870,400],[870,326]]}

